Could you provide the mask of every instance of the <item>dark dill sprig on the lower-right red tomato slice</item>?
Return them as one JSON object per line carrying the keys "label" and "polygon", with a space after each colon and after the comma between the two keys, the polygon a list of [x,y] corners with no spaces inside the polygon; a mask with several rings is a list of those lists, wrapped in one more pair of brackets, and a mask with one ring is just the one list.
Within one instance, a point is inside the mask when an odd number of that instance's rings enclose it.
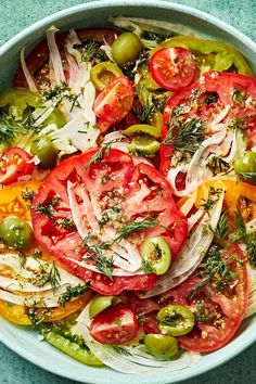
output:
{"label": "dark dill sprig on the lower-right red tomato slice", "polygon": [[227,259],[221,257],[220,251],[217,245],[212,245],[209,248],[204,263],[199,266],[199,276],[203,278],[188,294],[187,298],[192,302],[193,298],[200,293],[200,291],[205,287],[208,283],[212,283],[215,277],[220,280],[226,278],[235,280],[236,274],[229,268],[229,263],[234,259],[234,256],[230,256]]}

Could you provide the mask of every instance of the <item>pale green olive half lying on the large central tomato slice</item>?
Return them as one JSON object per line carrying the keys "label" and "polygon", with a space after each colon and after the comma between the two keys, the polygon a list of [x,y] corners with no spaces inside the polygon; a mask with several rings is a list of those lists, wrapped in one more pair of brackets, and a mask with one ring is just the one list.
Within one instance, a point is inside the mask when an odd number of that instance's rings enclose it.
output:
{"label": "pale green olive half lying on the large central tomato slice", "polygon": [[170,247],[161,236],[146,238],[141,246],[142,265],[152,273],[164,274],[171,261]]}

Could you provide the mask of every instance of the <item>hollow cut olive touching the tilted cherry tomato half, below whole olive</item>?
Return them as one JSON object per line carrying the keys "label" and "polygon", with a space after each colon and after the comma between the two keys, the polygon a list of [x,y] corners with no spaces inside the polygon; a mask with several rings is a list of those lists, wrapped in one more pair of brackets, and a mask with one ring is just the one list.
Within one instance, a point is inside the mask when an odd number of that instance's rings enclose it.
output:
{"label": "hollow cut olive touching the tilted cherry tomato half, below whole olive", "polygon": [[116,64],[111,62],[99,63],[90,72],[91,81],[98,91],[102,91],[107,84],[119,76],[124,76],[123,72]]}

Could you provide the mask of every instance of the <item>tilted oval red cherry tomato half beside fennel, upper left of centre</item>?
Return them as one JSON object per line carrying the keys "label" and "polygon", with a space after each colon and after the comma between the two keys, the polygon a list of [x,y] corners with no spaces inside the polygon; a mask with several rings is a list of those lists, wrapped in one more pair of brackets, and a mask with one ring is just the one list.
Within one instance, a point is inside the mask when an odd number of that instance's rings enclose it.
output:
{"label": "tilted oval red cherry tomato half beside fennel, upper left of centre", "polygon": [[132,84],[128,77],[121,76],[111,81],[98,94],[93,111],[103,121],[115,124],[128,114],[132,103]]}

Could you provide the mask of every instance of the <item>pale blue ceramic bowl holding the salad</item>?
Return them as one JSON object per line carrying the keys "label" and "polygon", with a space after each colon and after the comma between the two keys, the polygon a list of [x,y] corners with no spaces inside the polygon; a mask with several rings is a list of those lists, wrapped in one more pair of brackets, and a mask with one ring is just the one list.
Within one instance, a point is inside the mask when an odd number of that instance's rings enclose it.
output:
{"label": "pale blue ceramic bowl holding the salad", "polygon": [[[197,10],[167,1],[92,1],[59,12],[34,24],[0,48],[0,89],[10,87],[20,65],[20,51],[25,43],[35,47],[44,30],[54,24],[62,30],[107,25],[108,16],[129,15],[157,18],[184,24],[197,29],[205,37],[233,44],[247,59],[256,74],[256,44],[226,23]],[[230,360],[256,340],[256,318],[244,321],[235,337],[226,347],[205,355],[188,369],[162,374],[121,374],[108,368],[90,368],[75,361],[50,345],[39,342],[31,330],[15,327],[0,318],[0,341],[30,362],[61,376],[90,384],[168,384],[191,379]]]}

